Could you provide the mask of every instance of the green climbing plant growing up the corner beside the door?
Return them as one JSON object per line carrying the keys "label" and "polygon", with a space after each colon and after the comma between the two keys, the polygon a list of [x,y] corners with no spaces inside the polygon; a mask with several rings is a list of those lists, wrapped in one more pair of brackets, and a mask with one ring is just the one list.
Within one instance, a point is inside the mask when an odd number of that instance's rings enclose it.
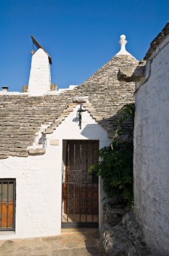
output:
{"label": "green climbing plant growing up the corner beside the door", "polygon": [[[89,168],[89,172],[103,178],[107,197],[116,195],[128,204],[133,200],[133,129],[129,131],[126,122],[133,122],[134,113],[134,104],[126,104],[118,111],[117,130],[111,144],[99,150],[101,160]],[[124,132],[129,139],[119,139]]]}

